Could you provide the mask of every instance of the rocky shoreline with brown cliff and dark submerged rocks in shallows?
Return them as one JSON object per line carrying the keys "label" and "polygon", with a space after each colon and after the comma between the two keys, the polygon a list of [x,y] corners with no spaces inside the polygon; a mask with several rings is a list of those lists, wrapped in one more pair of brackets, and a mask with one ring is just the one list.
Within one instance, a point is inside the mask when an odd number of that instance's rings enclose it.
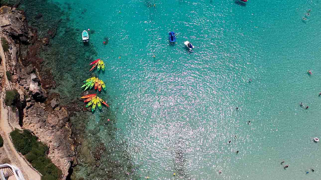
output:
{"label": "rocky shoreline with brown cliff and dark submerged rocks in shallows", "polygon": [[[117,142],[115,138],[115,113],[106,109],[100,113],[94,129],[87,127],[92,121],[91,112],[79,97],[94,91],[81,94],[74,87],[88,78],[88,73],[80,68],[95,56],[94,49],[81,44],[76,47],[74,36],[79,30],[66,26],[68,17],[65,21],[45,19],[64,14],[56,4],[42,0],[15,4],[0,8],[0,36],[8,43],[5,71],[11,74],[11,87],[7,90],[16,89],[20,94],[19,102],[12,107],[10,124],[13,128],[29,129],[48,145],[48,157],[62,170],[63,180],[138,179],[139,167],[132,164],[126,142]],[[15,8],[17,4],[28,8],[28,13]],[[34,4],[42,7],[40,12]],[[60,23],[65,26],[59,35]],[[59,44],[65,41],[73,45]]]}

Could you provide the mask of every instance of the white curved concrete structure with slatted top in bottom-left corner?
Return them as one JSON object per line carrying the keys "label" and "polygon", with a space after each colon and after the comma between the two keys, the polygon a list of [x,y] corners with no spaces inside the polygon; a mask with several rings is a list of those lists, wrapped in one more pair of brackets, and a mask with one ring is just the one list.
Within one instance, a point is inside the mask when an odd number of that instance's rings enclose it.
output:
{"label": "white curved concrete structure with slatted top in bottom-left corner", "polygon": [[0,180],[25,180],[20,169],[10,164],[0,165]]}

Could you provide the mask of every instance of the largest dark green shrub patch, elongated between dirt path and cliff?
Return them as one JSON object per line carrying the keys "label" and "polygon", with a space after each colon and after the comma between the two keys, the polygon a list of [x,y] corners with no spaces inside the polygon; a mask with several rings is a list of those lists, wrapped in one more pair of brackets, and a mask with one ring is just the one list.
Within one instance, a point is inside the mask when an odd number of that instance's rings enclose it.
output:
{"label": "largest dark green shrub patch, elongated between dirt path and cliff", "polygon": [[31,134],[30,131],[24,129],[14,129],[10,133],[14,147],[26,156],[32,167],[37,169],[41,174],[42,180],[60,179],[62,172],[51,162],[46,156],[48,146],[38,141],[38,137]]}

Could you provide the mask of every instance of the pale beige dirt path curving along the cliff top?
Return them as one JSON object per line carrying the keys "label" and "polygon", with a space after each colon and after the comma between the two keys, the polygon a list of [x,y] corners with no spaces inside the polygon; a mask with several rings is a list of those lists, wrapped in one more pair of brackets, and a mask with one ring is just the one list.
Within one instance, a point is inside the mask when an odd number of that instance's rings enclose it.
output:
{"label": "pale beige dirt path curving along the cliff top", "polygon": [[[4,96],[5,96],[5,88],[7,86],[10,86],[7,76],[5,74],[6,72],[6,60],[4,56],[4,51],[2,49],[2,44],[0,41],[0,57],[2,59],[1,63],[4,69],[4,84],[3,84],[3,90],[1,93],[1,98],[0,98],[0,106],[1,106],[1,121],[0,121],[0,134],[3,137],[4,140],[4,149],[8,155],[8,158],[11,160],[11,163],[17,166],[24,178],[26,180],[40,180],[41,176],[23,160],[22,157],[18,154],[18,152],[15,150],[8,134],[12,131],[9,122],[8,122],[8,112],[7,109],[5,109],[4,105]],[[7,107],[8,108],[8,107]]]}

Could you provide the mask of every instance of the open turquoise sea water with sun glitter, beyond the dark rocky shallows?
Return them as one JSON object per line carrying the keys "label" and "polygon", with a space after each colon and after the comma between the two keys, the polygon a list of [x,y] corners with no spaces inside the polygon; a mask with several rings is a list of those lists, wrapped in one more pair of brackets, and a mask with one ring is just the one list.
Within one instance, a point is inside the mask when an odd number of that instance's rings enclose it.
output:
{"label": "open turquoise sea water with sun glitter, beyond the dark rocky shallows", "polygon": [[[320,145],[312,138],[321,137],[321,2],[65,2],[75,28],[96,31],[92,58],[107,64],[99,77],[117,138],[127,142],[142,178],[319,177]],[[177,33],[175,45],[169,31]],[[88,129],[98,111],[95,117]],[[100,137],[107,134],[100,129]],[[309,168],[316,171],[305,174]]]}

